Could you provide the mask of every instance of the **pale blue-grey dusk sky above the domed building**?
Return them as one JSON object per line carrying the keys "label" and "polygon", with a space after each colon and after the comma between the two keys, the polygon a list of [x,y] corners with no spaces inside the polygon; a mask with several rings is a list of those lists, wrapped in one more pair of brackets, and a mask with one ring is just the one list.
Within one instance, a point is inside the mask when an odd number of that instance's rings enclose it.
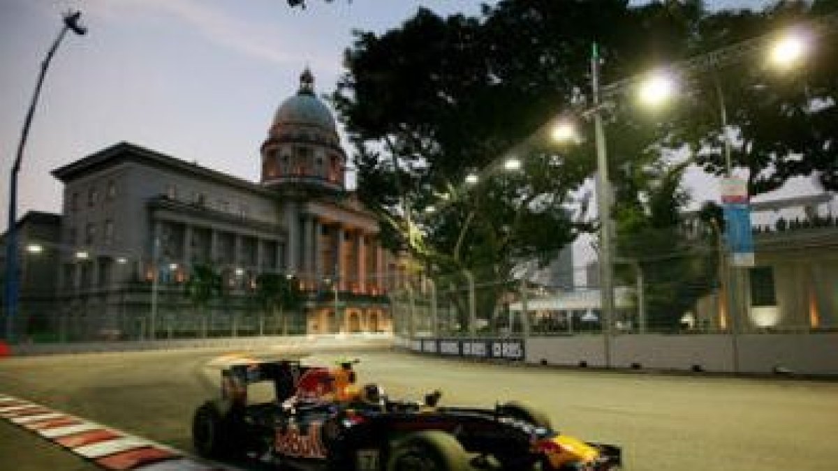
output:
{"label": "pale blue-grey dusk sky above the domed building", "polygon": [[[49,172],[116,142],[256,181],[259,146],[307,65],[334,90],[353,28],[383,32],[423,5],[477,13],[472,0],[0,0],[3,230],[8,175],[39,64],[80,9],[88,34],[68,35],[44,83],[18,183],[18,217],[60,211]],[[763,8],[764,1],[713,2]],[[349,151],[349,149],[347,149]]]}

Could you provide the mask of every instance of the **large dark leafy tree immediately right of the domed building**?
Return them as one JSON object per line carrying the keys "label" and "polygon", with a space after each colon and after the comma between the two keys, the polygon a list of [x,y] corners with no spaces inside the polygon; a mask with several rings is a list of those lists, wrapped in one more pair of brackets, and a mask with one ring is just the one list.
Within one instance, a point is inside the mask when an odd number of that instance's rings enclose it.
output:
{"label": "large dark leafy tree immediately right of the domed building", "polygon": [[[650,11],[617,0],[504,1],[483,18],[420,9],[383,35],[356,33],[333,100],[354,144],[360,198],[386,221],[388,246],[460,286],[465,270],[503,285],[523,261],[544,264],[590,229],[569,208],[592,153],[524,138],[582,95],[595,39],[612,71],[641,56],[628,39],[663,23]],[[491,171],[511,154],[522,171]],[[477,188],[460,184],[481,168],[490,170]],[[423,216],[429,205],[442,208]],[[478,312],[494,310],[498,291],[481,291]],[[465,300],[457,304],[464,329]]]}

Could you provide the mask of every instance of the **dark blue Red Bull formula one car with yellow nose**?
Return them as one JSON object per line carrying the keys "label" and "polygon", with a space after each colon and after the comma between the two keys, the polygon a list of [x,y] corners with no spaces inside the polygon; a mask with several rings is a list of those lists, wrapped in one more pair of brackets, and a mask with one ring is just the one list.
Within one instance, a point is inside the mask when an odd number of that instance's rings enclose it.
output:
{"label": "dark blue Red Bull formula one car with yellow nose", "polygon": [[[350,363],[265,361],[221,375],[221,398],[194,414],[194,448],[207,458],[345,471],[611,471],[622,463],[618,447],[556,432],[520,403],[438,406],[439,391],[419,402],[393,401],[376,385],[356,388]],[[272,381],[275,401],[248,403],[247,386],[259,381]]]}

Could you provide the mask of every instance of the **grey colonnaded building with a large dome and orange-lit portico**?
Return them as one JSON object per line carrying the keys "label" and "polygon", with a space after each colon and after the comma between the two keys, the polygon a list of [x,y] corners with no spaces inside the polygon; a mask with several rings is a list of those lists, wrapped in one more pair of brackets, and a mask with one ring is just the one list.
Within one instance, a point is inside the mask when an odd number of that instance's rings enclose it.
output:
{"label": "grey colonnaded building with a large dome and orange-lit portico", "polygon": [[[277,108],[260,156],[259,182],[127,142],[55,169],[60,244],[72,247],[59,262],[62,335],[391,332],[395,259],[346,189],[346,153],[311,71]],[[185,297],[196,267],[220,274],[225,296]],[[258,308],[265,273],[297,283],[302,306]]]}

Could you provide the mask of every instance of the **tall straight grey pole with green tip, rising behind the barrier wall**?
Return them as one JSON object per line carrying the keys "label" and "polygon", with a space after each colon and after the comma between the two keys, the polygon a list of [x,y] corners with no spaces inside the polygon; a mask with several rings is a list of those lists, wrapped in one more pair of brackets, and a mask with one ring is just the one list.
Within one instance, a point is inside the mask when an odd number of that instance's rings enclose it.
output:
{"label": "tall straight grey pole with green tip, rising behind the barrier wall", "polygon": [[599,101],[600,58],[597,44],[591,49],[593,124],[597,144],[597,213],[599,215],[599,279],[602,307],[605,367],[611,367],[611,333],[614,318],[613,262],[611,247],[611,185],[608,183],[608,153],[605,145],[603,111]]}

